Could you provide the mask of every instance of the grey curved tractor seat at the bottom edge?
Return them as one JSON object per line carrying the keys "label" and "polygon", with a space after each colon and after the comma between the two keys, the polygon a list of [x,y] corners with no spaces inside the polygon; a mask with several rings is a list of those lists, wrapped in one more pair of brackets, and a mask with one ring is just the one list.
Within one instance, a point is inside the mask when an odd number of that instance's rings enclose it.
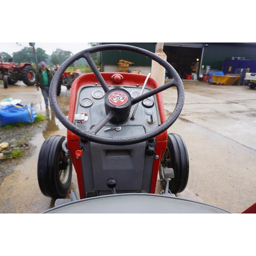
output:
{"label": "grey curved tractor seat at the bottom edge", "polygon": [[156,194],[115,194],[73,201],[44,214],[230,214],[221,208]]}

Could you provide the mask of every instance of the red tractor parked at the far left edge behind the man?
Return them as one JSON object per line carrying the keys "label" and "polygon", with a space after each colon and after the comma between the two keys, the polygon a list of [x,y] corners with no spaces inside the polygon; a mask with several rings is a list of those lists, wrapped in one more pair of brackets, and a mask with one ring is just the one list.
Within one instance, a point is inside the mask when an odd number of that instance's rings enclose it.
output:
{"label": "red tractor parked at the far left edge behind the man", "polygon": [[28,62],[20,63],[20,65],[12,62],[0,62],[0,79],[4,81],[4,88],[8,88],[8,84],[14,84],[17,80],[22,80],[27,86],[35,84],[35,69]]}

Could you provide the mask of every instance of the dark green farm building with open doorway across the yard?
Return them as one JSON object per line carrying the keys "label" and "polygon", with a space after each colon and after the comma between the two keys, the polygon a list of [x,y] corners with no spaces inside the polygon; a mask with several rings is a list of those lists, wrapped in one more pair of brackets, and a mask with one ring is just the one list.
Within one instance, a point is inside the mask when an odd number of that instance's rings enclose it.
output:
{"label": "dark green farm building with open doorway across the yard", "polygon": [[[156,52],[156,42],[101,42],[106,44],[132,45]],[[164,53],[167,61],[176,69],[181,78],[187,74],[199,75],[210,72],[222,71],[226,60],[255,60],[248,65],[256,68],[256,43],[180,43],[164,42]],[[119,60],[133,62],[127,66],[127,72],[141,73],[147,75],[151,72],[151,60],[141,55],[130,52],[109,51],[100,55],[101,70],[104,72],[115,72],[118,70]],[[243,62],[245,65],[245,62]],[[229,63],[230,65],[230,63]],[[236,64],[237,65],[237,64]],[[233,68],[236,66],[233,65]],[[232,67],[232,62],[231,66]],[[237,66],[236,66],[237,67]],[[246,67],[250,68],[250,67]],[[230,68],[229,68],[230,69]],[[251,70],[251,72],[254,72]],[[235,73],[232,70],[228,73]]]}

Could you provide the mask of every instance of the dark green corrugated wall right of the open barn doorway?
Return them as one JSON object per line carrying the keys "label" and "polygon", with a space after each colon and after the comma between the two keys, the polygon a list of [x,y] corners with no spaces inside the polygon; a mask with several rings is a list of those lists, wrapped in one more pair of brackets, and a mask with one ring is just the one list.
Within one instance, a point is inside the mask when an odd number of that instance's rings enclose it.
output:
{"label": "dark green corrugated wall right of the open barn doorway", "polygon": [[256,45],[240,43],[209,43],[204,48],[202,65],[211,66],[211,69],[222,69],[224,60],[232,57],[256,59]]}

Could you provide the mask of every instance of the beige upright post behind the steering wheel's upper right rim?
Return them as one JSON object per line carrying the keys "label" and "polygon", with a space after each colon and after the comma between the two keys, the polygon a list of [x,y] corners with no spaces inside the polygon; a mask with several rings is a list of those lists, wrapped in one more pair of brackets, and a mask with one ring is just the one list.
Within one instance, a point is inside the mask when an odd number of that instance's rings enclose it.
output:
{"label": "beige upright post behind the steering wheel's upper right rim", "polygon": [[[163,42],[157,43],[157,51],[156,54],[163,58],[164,60],[167,59],[166,54],[163,52]],[[164,78],[165,78],[165,68],[162,67],[158,62],[155,60],[152,60],[152,66],[151,66],[151,77],[156,79],[160,86],[164,84]]]}

